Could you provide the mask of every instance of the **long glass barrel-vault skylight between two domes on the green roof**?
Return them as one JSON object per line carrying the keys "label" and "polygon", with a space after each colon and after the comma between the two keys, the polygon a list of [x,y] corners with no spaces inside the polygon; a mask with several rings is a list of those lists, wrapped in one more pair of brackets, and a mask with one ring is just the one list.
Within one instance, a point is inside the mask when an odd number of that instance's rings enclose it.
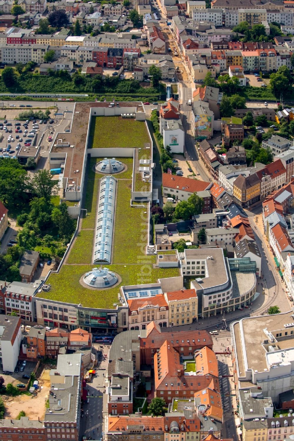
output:
{"label": "long glass barrel-vault skylight between two domes on the green roof", "polygon": [[105,176],[100,181],[94,263],[111,262],[116,187],[117,180],[113,176]]}

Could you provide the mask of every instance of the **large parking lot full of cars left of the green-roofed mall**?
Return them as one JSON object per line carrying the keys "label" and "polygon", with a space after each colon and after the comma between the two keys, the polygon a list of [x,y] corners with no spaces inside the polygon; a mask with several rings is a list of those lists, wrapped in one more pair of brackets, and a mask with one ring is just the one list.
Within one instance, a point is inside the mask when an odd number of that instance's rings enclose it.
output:
{"label": "large parking lot full of cars left of the green-roofed mall", "polygon": [[[26,148],[38,146],[41,137],[48,139],[52,126],[41,120],[16,121],[4,120],[0,122],[0,157],[17,157],[22,155]],[[54,121],[54,120],[51,120]],[[52,130],[53,131],[53,130]],[[34,136],[30,133],[34,132]]]}

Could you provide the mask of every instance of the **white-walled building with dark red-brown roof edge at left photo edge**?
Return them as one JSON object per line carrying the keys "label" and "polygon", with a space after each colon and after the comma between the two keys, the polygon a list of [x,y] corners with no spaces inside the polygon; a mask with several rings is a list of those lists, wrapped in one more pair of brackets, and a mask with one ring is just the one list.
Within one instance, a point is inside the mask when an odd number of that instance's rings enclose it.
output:
{"label": "white-walled building with dark red-brown roof edge at left photo edge", "polygon": [[15,370],[21,340],[20,318],[12,315],[0,315],[0,362],[3,370],[10,372]]}

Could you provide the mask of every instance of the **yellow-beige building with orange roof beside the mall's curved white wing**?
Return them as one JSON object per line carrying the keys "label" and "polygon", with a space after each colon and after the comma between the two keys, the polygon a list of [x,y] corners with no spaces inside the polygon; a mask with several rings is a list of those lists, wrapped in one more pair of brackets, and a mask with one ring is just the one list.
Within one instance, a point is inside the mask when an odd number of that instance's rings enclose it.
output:
{"label": "yellow-beige building with orange roof beside the mall's curved white wing", "polygon": [[198,298],[195,289],[166,292],[166,302],[169,306],[169,325],[189,325],[198,321]]}

